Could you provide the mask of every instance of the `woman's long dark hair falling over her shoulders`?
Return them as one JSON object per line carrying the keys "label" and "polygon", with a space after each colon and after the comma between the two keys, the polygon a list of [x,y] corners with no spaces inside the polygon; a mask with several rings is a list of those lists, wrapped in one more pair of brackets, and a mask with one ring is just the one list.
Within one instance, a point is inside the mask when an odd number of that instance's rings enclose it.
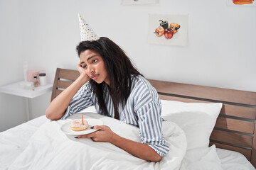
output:
{"label": "woman's long dark hair falling over her shoulders", "polygon": [[[124,106],[131,93],[132,80],[131,76],[142,75],[133,66],[129,57],[125,54],[117,44],[109,38],[101,37],[95,41],[82,41],[76,47],[78,56],[85,50],[93,50],[100,54],[105,62],[107,74],[110,77],[110,95],[114,103],[114,110],[117,112],[119,103]],[[107,115],[107,108],[104,102],[102,84],[97,84],[96,81],[90,79],[93,93],[96,94],[100,109]]]}

